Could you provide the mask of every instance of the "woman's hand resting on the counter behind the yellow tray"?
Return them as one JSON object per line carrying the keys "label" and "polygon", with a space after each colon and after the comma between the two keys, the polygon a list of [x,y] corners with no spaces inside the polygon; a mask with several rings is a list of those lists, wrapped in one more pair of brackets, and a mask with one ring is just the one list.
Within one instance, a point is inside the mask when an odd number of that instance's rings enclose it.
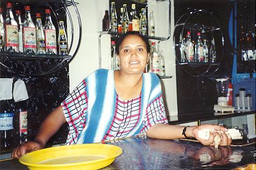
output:
{"label": "woman's hand resting on the counter behind the yellow tray", "polygon": [[37,151],[38,149],[43,149],[43,144],[40,144],[37,141],[26,141],[21,143],[17,148],[12,152],[12,158],[20,158],[28,152]]}

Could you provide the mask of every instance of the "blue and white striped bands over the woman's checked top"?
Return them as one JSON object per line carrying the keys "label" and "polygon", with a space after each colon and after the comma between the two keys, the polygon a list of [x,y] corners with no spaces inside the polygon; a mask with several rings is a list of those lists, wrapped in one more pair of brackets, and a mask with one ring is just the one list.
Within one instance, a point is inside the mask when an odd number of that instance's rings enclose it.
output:
{"label": "blue and white striped bands over the woman's checked top", "polygon": [[[85,78],[85,82],[88,96],[87,122],[78,137],[77,144],[100,142],[110,128],[115,115],[116,90],[113,70],[96,70]],[[148,104],[161,94],[162,89],[157,75],[143,73],[140,120],[127,136],[139,134]]]}

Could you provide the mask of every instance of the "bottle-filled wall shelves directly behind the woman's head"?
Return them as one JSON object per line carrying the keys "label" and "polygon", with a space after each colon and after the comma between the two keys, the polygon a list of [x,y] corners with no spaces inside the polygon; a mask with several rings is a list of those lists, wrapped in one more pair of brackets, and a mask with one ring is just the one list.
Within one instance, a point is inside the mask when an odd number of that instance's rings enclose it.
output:
{"label": "bottle-filled wall shelves directly behind the woman's head", "polygon": [[[154,3],[162,1],[154,1]],[[170,1],[169,6],[171,6]],[[159,75],[160,78],[171,78],[172,76],[166,76],[165,74],[165,60],[163,52],[157,51],[155,42],[153,41],[165,41],[169,37],[155,36],[155,21],[154,13],[151,10],[148,17],[148,5],[149,1],[110,1],[108,16],[108,10],[105,11],[104,18],[102,19],[102,32],[99,32],[100,36],[104,34],[111,35],[111,63],[112,69],[117,70],[118,60],[116,58],[116,42],[126,32],[138,31],[145,39],[149,40],[151,45],[151,56],[149,58],[148,65],[144,72],[154,72]],[[170,9],[169,9],[170,10]],[[130,15],[129,15],[130,14]],[[167,24],[166,24],[167,25]],[[170,23],[169,23],[170,25]],[[152,41],[153,40],[153,41]],[[100,44],[100,42],[99,42]],[[159,42],[158,42],[159,44]],[[100,49],[99,49],[100,51]]]}

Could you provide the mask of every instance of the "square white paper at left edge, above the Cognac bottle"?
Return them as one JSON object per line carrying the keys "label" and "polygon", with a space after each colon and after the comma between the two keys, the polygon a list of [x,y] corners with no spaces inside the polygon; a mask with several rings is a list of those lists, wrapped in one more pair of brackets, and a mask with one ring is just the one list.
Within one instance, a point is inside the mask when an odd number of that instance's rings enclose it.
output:
{"label": "square white paper at left edge, above the Cognac bottle", "polygon": [[12,99],[12,78],[0,78],[0,100]]}

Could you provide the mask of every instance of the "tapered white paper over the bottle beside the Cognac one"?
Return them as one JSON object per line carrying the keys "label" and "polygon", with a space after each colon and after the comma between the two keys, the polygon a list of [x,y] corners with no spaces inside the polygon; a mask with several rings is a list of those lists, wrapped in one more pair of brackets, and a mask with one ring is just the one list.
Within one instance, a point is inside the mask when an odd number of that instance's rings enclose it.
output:
{"label": "tapered white paper over the bottle beside the Cognac one", "polygon": [[13,86],[13,100],[15,102],[27,100],[29,95],[27,95],[26,85],[23,80],[17,80]]}

